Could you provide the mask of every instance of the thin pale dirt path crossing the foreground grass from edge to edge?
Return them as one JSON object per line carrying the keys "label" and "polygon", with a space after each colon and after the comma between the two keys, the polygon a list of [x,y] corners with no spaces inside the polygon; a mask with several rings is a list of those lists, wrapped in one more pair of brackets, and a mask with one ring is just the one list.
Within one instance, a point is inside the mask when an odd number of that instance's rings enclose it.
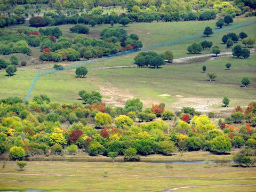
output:
{"label": "thin pale dirt path crossing the foreground grass from edge to edge", "polygon": [[[0,173],[0,175],[34,175],[53,177],[105,177],[105,175],[71,175],[71,174],[38,174],[38,173]],[[186,177],[166,175],[107,175],[107,177],[148,177],[148,178],[185,178],[185,179],[256,179],[256,177]],[[256,184],[255,184],[256,185]]]}

